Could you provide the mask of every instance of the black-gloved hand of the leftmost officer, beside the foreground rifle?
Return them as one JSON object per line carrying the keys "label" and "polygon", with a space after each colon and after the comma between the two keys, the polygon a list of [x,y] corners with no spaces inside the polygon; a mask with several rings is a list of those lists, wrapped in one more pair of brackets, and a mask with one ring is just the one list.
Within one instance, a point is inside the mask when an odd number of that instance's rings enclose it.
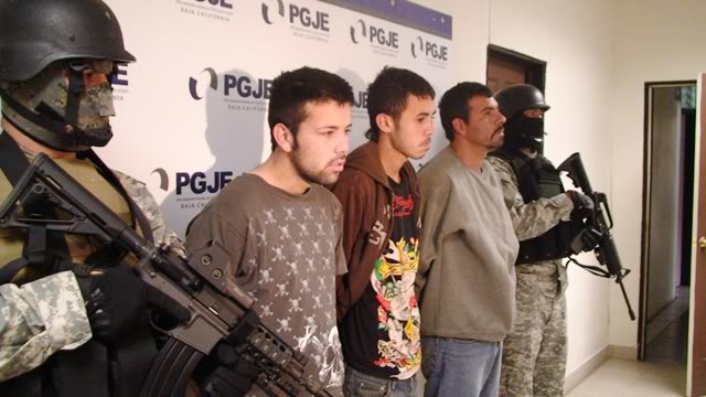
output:
{"label": "black-gloved hand of the leftmost officer, beside the foreground rifle", "polygon": [[148,308],[161,310],[179,321],[191,318],[189,309],[142,281],[131,270],[77,266],[74,272],[86,301],[93,335],[103,342],[118,341],[138,323]]}

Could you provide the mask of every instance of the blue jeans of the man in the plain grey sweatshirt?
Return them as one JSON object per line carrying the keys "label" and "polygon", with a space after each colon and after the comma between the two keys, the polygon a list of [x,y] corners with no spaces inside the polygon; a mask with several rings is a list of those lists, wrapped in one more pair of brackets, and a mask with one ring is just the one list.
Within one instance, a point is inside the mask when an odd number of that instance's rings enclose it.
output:
{"label": "blue jeans of the man in the plain grey sweatshirt", "polygon": [[502,342],[421,339],[425,397],[496,397]]}

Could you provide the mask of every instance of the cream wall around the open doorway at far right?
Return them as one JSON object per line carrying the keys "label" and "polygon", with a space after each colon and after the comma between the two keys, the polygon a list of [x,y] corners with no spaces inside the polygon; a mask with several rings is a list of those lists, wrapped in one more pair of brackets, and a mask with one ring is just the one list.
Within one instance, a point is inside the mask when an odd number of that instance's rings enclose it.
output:
{"label": "cream wall around the open doorway at far right", "polygon": [[[633,305],[640,293],[644,83],[696,79],[706,71],[706,2],[700,0],[622,0],[616,2],[614,55],[610,87],[596,115],[612,143],[611,204],[614,236],[623,265],[633,275],[625,288]],[[624,315],[622,297],[611,290],[611,345],[637,346],[638,324]]]}

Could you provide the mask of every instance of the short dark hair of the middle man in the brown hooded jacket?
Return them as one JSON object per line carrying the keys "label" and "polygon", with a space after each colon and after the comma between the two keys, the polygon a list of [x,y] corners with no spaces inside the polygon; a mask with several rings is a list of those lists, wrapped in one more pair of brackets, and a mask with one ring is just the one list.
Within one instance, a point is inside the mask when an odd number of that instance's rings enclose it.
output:
{"label": "short dark hair of the middle man in the brown hooded jacket", "polygon": [[429,82],[418,74],[403,68],[385,66],[367,87],[367,115],[371,128],[365,138],[377,142],[379,128],[375,118],[379,114],[392,116],[397,121],[407,107],[407,96],[431,98],[436,95]]}

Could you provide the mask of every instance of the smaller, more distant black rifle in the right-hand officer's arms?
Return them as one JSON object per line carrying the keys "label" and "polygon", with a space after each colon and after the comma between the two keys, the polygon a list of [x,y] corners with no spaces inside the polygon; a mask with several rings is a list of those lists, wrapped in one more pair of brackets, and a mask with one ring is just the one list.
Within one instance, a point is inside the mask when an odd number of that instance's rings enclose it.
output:
{"label": "smaller, more distant black rifle in the right-hand officer's arms", "polygon": [[[595,249],[596,258],[598,262],[606,266],[608,269],[608,277],[614,278],[616,283],[620,286],[625,305],[628,307],[628,315],[630,320],[635,320],[635,314],[630,305],[630,299],[625,292],[625,287],[622,283],[622,279],[630,273],[630,269],[624,269],[618,255],[618,247],[613,239],[610,229],[613,227],[612,216],[610,214],[610,207],[608,206],[608,198],[606,194],[595,192],[591,187],[591,183],[586,174],[584,162],[579,153],[574,153],[568,157],[559,167],[559,171],[565,171],[569,179],[574,182],[576,187],[580,187],[584,193],[593,200],[593,211],[591,216],[586,221],[587,230],[598,230],[600,234],[600,240],[598,247]],[[589,232],[590,233],[590,232]],[[574,246],[574,244],[573,244]],[[575,254],[578,254],[581,249],[574,249]]]}

